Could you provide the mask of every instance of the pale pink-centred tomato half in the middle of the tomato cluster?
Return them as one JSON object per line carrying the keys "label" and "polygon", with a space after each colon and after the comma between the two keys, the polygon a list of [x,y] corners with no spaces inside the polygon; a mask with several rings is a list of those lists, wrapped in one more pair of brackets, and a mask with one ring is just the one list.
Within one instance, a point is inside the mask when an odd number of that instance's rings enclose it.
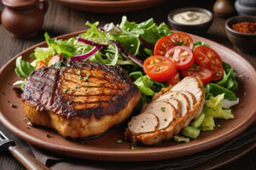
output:
{"label": "pale pink-centred tomato half in the middle of the tomato cluster", "polygon": [[186,46],[175,46],[166,51],[165,57],[172,59],[177,69],[187,69],[193,65],[195,59],[191,49]]}

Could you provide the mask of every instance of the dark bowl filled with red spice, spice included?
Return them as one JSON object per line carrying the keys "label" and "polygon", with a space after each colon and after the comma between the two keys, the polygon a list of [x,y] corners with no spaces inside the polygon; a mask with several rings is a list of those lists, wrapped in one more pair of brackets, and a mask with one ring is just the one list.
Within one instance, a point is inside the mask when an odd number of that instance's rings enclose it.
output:
{"label": "dark bowl filled with red spice, spice included", "polygon": [[233,16],[226,20],[225,31],[236,51],[256,54],[256,16]]}

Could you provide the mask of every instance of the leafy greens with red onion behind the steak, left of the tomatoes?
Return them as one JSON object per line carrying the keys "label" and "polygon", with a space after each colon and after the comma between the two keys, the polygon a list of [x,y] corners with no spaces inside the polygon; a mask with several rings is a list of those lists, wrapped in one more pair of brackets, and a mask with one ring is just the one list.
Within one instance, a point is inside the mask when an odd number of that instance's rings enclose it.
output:
{"label": "leafy greens with red onion behind the steak, left of the tomatoes", "polygon": [[[48,33],[44,34],[47,48],[35,48],[30,55],[33,59],[31,66],[20,58],[16,63],[15,72],[18,76],[26,78],[39,60],[47,56],[62,54],[67,60],[88,59],[106,65],[120,65],[128,75],[136,78],[135,83],[145,96],[152,96],[154,91],[165,87],[164,83],[154,82],[143,73],[143,60],[153,54],[154,43],[160,37],[171,34],[170,29],[163,22],[156,25],[151,18],[139,24],[130,22],[126,16],[119,24],[108,23],[99,27],[99,22],[90,23],[89,28],[79,37],[67,40],[51,39]],[[16,82],[22,87],[24,81]]]}

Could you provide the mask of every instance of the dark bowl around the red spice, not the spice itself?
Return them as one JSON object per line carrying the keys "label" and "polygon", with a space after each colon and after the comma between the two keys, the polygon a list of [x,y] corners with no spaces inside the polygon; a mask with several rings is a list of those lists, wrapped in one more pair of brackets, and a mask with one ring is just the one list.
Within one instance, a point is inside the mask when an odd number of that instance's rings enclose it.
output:
{"label": "dark bowl around the red spice, not the spice itself", "polygon": [[236,51],[249,54],[256,54],[256,34],[242,33],[240,31],[233,30],[231,27],[233,24],[245,21],[256,23],[256,16],[236,15],[226,20],[226,35]]}

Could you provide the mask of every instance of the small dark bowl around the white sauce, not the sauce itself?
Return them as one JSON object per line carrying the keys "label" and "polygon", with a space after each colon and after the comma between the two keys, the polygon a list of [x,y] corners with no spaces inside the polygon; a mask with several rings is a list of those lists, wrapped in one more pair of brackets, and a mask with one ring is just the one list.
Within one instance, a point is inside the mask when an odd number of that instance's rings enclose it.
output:
{"label": "small dark bowl around the white sauce, not the sauce itself", "polygon": [[[176,20],[173,19],[173,17],[176,14],[181,14],[184,12],[196,12],[196,13],[201,13],[201,14],[206,14],[208,17],[208,20],[200,23],[200,24],[183,24],[180,22],[177,22]],[[205,34],[207,30],[209,29],[210,26],[212,26],[212,20],[213,20],[213,14],[211,11],[205,9],[205,8],[177,8],[172,10],[167,17],[169,24],[172,26],[172,29],[177,30],[177,31],[186,31],[189,33],[193,34]]]}

